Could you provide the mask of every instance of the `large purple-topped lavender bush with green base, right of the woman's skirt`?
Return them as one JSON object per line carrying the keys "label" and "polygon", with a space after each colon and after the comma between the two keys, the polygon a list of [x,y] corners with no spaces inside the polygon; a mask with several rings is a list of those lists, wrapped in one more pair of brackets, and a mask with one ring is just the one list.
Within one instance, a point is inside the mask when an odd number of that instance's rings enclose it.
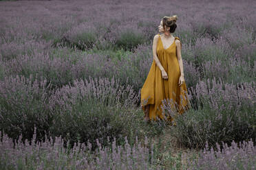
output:
{"label": "large purple-topped lavender bush with green base, right of the woman's skirt", "polygon": [[173,130],[181,145],[202,148],[206,141],[213,146],[221,141],[255,140],[255,82],[223,84],[214,78],[190,91],[195,94],[198,110],[177,118]]}

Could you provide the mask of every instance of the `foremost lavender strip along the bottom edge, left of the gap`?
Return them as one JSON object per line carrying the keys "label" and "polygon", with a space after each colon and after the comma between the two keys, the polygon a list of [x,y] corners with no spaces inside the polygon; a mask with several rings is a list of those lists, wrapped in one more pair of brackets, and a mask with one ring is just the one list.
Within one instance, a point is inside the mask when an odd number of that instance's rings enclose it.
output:
{"label": "foremost lavender strip along the bottom edge, left of the gap", "polygon": [[[147,137],[145,142],[129,145],[116,145],[116,139],[109,147],[103,147],[95,140],[98,149],[92,152],[92,143],[75,143],[66,149],[61,136],[36,142],[36,127],[31,144],[26,139],[22,143],[22,135],[12,141],[7,134],[0,131],[0,167],[1,169],[156,169],[153,157],[153,145]],[[67,141],[67,145],[70,142]],[[159,169],[159,168],[158,168]]]}

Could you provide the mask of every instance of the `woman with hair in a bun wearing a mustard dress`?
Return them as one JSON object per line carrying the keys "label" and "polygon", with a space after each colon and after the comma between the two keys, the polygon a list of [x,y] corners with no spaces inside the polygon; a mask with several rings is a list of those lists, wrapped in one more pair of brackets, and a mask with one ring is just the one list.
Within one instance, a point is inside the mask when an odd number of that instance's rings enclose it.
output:
{"label": "woman with hair in a bun wearing a mustard dress", "polygon": [[[153,62],[141,89],[141,106],[145,121],[163,119],[162,101],[173,101],[175,111],[182,114],[190,107],[184,81],[180,38],[174,37],[177,16],[164,16],[159,32],[153,38]],[[171,104],[171,102],[169,102]],[[173,121],[173,117],[168,116]]]}

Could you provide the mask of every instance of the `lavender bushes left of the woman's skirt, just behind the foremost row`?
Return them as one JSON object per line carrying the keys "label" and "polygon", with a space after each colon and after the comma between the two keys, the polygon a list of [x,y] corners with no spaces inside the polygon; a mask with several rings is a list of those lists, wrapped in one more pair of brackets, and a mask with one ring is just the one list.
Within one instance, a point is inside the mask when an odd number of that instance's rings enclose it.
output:
{"label": "lavender bushes left of the woman's skirt, just behind the foremost row", "polygon": [[[5,77],[0,82],[1,130],[16,139],[23,134],[25,140],[32,138],[35,125],[37,140],[50,131],[54,136],[69,139],[71,144],[96,138],[103,143],[107,136],[111,140],[116,137],[119,143],[121,135],[132,138],[131,130],[138,135],[134,125],[125,130],[138,119],[132,108],[136,108],[139,96],[132,86],[121,86],[114,77],[90,77],[85,81],[74,80],[73,84],[52,89],[52,84],[42,77]],[[96,144],[93,145],[95,149]]]}

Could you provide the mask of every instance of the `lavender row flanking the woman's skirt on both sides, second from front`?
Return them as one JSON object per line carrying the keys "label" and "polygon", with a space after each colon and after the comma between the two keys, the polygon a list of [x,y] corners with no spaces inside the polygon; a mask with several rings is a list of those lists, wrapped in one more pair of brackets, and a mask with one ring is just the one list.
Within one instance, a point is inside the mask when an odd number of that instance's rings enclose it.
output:
{"label": "lavender row flanking the woman's skirt on both sides, second from front", "polygon": [[[255,138],[255,91],[255,82],[201,81],[189,89],[193,109],[177,117],[175,137],[186,147],[200,148],[206,141],[214,145]],[[111,81],[92,77],[89,81],[74,80],[73,84],[52,89],[42,77],[11,76],[0,83],[0,99],[1,129],[13,138],[21,133],[31,138],[34,124],[39,127],[40,138],[50,130],[73,143],[77,138],[87,141],[96,137],[103,142],[108,133],[131,137],[131,131],[140,131],[136,125],[141,116],[137,116],[142,114],[132,114],[140,93],[129,84],[121,86],[114,77]],[[127,123],[130,130],[125,127]]]}

